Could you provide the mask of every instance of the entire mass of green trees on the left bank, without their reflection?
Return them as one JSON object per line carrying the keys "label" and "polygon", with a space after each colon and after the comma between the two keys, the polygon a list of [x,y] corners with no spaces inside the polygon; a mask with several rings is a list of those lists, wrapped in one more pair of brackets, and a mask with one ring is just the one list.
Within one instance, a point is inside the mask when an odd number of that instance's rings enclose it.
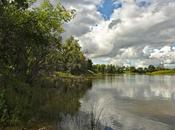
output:
{"label": "entire mass of green trees on the left bank, without their reflection", "polygon": [[62,25],[74,11],[61,4],[53,7],[48,1],[40,8],[28,9],[26,2],[1,1],[0,74],[31,84],[55,71],[86,72],[89,60],[78,40],[71,37],[64,43],[61,37]]}

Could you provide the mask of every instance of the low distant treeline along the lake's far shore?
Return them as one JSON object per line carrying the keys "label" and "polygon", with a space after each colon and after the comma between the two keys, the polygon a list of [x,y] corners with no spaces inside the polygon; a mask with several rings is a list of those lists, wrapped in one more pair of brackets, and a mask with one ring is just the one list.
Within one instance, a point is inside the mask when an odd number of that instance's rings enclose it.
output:
{"label": "low distant treeline along the lake's far shore", "polygon": [[145,68],[142,68],[142,67],[136,68],[134,66],[125,67],[125,66],[117,66],[112,64],[96,64],[92,66],[93,72],[101,73],[101,74],[122,74],[122,73],[145,74],[145,73],[152,73],[160,70],[167,70],[167,69],[163,67],[156,67],[154,65],[149,65],[148,67],[145,67]]}

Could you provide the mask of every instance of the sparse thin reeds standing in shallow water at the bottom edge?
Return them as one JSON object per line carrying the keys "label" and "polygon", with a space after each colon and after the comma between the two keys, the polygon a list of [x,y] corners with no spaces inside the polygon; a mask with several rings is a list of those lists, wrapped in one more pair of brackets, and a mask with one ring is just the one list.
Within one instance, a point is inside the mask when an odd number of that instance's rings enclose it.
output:
{"label": "sparse thin reeds standing in shallow water at the bottom edge", "polygon": [[[110,127],[104,126],[100,122],[103,116],[103,108],[98,108],[96,105],[88,112],[79,112],[74,117],[63,115],[62,124],[63,130],[106,130]],[[112,128],[111,128],[112,129]],[[111,130],[110,129],[110,130]]]}

